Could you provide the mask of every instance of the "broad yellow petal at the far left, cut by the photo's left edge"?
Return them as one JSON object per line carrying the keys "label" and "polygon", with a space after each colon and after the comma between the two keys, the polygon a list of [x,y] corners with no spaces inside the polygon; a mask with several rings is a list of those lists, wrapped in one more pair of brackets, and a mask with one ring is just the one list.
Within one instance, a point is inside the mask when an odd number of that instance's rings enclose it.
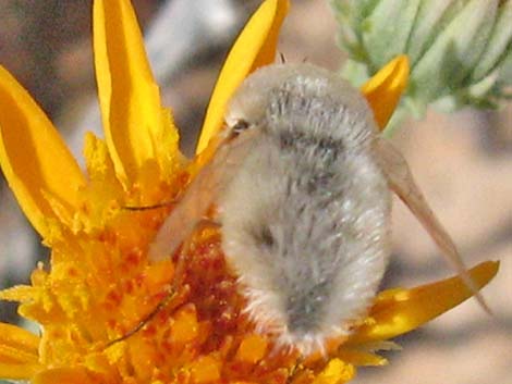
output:
{"label": "broad yellow petal at the far left, cut by the photo's left edge", "polygon": [[45,198],[74,211],[84,176],[45,112],[0,67],[0,163],[20,206],[34,227],[48,235],[46,218],[57,218]]}

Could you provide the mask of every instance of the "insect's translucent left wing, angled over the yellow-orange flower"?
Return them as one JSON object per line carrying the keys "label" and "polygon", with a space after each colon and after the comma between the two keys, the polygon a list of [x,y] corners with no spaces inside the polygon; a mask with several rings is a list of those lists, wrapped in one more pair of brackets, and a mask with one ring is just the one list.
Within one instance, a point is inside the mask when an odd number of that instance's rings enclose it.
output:
{"label": "insect's translucent left wing, angled over the yellow-orange flower", "polygon": [[225,135],[210,162],[191,182],[149,245],[149,260],[162,260],[175,252],[196,224],[204,219],[222,188],[231,182],[258,133],[258,129],[252,128],[240,134]]}

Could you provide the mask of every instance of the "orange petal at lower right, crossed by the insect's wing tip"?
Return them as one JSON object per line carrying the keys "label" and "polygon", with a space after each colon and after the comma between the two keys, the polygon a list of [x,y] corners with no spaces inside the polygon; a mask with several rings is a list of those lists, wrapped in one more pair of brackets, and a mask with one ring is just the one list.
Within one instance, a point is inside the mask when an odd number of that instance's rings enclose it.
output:
{"label": "orange petal at lower right, crossed by the insect's wing tip", "polygon": [[[498,272],[499,262],[487,261],[470,270],[478,288],[484,287]],[[370,322],[362,325],[346,345],[383,340],[395,337],[430,321],[472,296],[459,277],[447,278],[413,289],[382,292],[370,310]]]}

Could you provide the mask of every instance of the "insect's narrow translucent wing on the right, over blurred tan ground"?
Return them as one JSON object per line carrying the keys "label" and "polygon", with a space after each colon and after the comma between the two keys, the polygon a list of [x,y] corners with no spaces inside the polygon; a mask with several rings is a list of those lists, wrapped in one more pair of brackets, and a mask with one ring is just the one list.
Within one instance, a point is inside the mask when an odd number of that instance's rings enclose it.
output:
{"label": "insect's narrow translucent wing on the right, over blurred tan ground", "polygon": [[490,313],[484,297],[478,292],[476,284],[470,276],[464,262],[462,261],[455,244],[444,230],[442,224],[434,214],[425,197],[416,185],[409,165],[402,154],[385,138],[378,138],[375,146],[378,161],[388,178],[390,188],[400,197],[400,199],[414,213],[416,219],[428,232],[432,240],[441,250],[448,262],[458,271],[461,278],[472,290],[481,308]]}

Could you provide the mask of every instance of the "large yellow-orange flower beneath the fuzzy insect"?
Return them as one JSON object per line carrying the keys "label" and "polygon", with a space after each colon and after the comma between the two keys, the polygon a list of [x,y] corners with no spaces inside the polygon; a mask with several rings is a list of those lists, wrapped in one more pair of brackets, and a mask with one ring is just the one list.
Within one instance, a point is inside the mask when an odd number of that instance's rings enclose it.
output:
{"label": "large yellow-orange flower beneath the fuzzy insect", "polygon": [[[0,162],[25,214],[51,248],[51,265],[39,264],[31,285],[0,293],[41,326],[35,335],[0,324],[0,377],[37,384],[344,383],[357,366],[386,363],[373,352],[385,340],[471,296],[459,277],[383,292],[349,338],[329,343],[327,360],[302,360],[294,350],[273,350],[271,336],[255,333],[224,264],[220,234],[205,228],[187,248],[182,287],[168,297],[173,261],[150,264],[146,251],[172,207],[123,207],[170,201],[186,187],[211,154],[215,141],[207,144],[220,129],[230,95],[249,72],[273,60],[288,7],[287,0],[265,1],[240,36],[193,161],[179,152],[129,0],[94,4],[106,140],[87,136],[86,174],[28,94],[0,69]],[[364,87],[380,126],[406,77],[406,60],[399,58]],[[486,262],[471,274],[481,287],[497,269]],[[161,310],[131,334],[159,305]]]}

